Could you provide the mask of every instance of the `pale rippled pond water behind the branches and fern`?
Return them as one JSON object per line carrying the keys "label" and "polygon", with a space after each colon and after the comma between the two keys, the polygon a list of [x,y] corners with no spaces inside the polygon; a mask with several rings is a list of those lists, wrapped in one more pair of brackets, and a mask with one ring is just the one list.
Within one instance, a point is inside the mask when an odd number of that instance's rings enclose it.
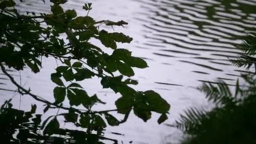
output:
{"label": "pale rippled pond water behind the branches and fern", "polygon": [[[177,120],[179,113],[187,107],[210,107],[204,95],[195,89],[202,82],[221,79],[233,85],[237,75],[245,70],[232,66],[227,56],[235,58],[239,51],[233,44],[240,43],[243,35],[253,31],[256,14],[248,14],[250,11],[241,9],[250,9],[256,5],[256,0],[234,0],[229,8],[222,5],[221,0],[69,0],[64,8],[74,8],[80,15],[85,15],[82,6],[88,2],[93,3],[89,15],[97,21],[108,19],[129,23],[124,28],[114,27],[115,32],[133,37],[131,44],[119,44],[118,47],[127,48],[133,56],[147,61],[149,68],[135,69],[136,75],[132,78],[139,80],[139,85],[134,88],[154,90],[171,104],[165,124]],[[19,7],[20,11],[48,12],[49,5],[37,0],[26,1]],[[114,31],[111,27],[100,28]],[[9,72],[17,81],[21,75],[21,85],[31,88],[33,93],[53,101],[55,85],[50,75],[55,67],[55,60],[43,59],[43,69],[39,74],[32,74],[28,69],[21,73]],[[108,103],[96,109],[115,108],[114,102],[119,95],[110,89],[102,89],[100,79],[94,77],[80,84],[90,95],[97,93]],[[13,90],[15,87],[1,72],[0,103],[13,96]],[[14,107],[19,108],[20,96],[16,95],[13,102],[16,103]],[[42,104],[27,96],[21,97],[20,108],[30,109],[32,103],[41,106],[38,112],[43,112]],[[44,117],[51,113],[56,112],[49,112]],[[117,117],[121,119],[122,115]],[[144,123],[132,114],[126,123],[108,127],[105,136],[117,139],[120,144],[128,144],[129,141],[133,141],[132,144],[175,143],[181,133],[167,125],[158,125],[158,117],[153,114],[152,119]],[[61,126],[66,125],[63,123]]]}

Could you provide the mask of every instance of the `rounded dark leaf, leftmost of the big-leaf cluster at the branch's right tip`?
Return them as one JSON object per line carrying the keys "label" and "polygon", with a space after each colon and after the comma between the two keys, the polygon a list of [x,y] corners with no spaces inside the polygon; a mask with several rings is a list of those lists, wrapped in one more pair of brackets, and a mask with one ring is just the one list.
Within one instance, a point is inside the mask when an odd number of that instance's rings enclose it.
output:
{"label": "rounded dark leaf, leftmost of the big-leaf cluster at the branch's right tip", "polygon": [[115,101],[115,105],[117,107],[117,112],[121,114],[126,114],[131,111],[134,104],[133,97],[122,96],[117,101]]}

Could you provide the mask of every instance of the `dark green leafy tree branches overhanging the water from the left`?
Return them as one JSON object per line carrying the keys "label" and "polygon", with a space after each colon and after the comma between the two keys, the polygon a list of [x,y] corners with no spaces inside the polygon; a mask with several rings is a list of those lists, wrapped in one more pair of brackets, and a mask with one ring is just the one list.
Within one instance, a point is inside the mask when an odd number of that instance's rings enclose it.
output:
{"label": "dark green leafy tree branches overhanging the water from the left", "polygon": [[[43,102],[45,104],[43,112],[48,112],[49,109],[66,110],[66,113],[48,117],[42,123],[40,126],[41,132],[43,132],[40,135],[42,137],[35,131],[33,136],[38,136],[39,139],[45,139],[45,136],[48,136],[48,139],[64,141],[62,137],[54,137],[55,134],[65,136],[65,134],[59,133],[62,131],[74,134],[74,136],[75,133],[85,135],[81,131],[61,129],[58,120],[60,116],[64,116],[66,122],[85,128],[86,133],[101,131],[107,125],[115,126],[124,123],[131,111],[145,122],[151,118],[152,112],[160,113],[158,123],[163,123],[168,118],[166,114],[170,109],[167,101],[154,91],[143,92],[131,88],[129,85],[138,84],[136,80],[130,78],[123,80],[124,76],[134,75],[133,67],[141,69],[148,67],[146,61],[132,56],[131,51],[117,48],[117,43],[130,43],[133,38],[123,33],[107,32],[100,29],[101,24],[113,27],[128,23],[125,21],[95,21],[88,16],[89,11],[92,10],[91,3],[83,5],[83,9],[87,11],[86,16],[77,16],[74,9],[64,10],[61,7],[67,3],[67,0],[50,0],[50,2],[53,3],[51,13],[20,13],[14,0],[0,1],[0,67],[3,73],[17,87],[17,91],[21,95],[28,95]],[[105,53],[103,48],[91,43],[91,39],[99,40],[106,48],[111,48],[112,54]],[[32,72],[37,73],[40,72],[43,65],[41,59],[50,57],[61,63],[56,67],[56,72],[49,76],[51,81],[57,85],[53,89],[54,102],[31,93],[29,88],[19,85],[6,71],[7,67],[18,71],[28,67]],[[119,72],[120,75],[114,75],[114,72],[117,74]],[[115,101],[116,109],[93,110],[94,105],[105,104],[105,102],[101,101],[96,94],[89,96],[79,84],[80,81],[93,77],[101,78],[103,88],[110,88],[115,93],[121,94],[121,97]],[[69,101],[70,107],[63,105],[65,100]],[[10,105],[7,102],[3,107],[6,104]],[[83,110],[77,109],[76,106],[83,107]],[[6,115],[5,112],[7,112]],[[8,119],[14,120],[14,117],[8,112],[21,113],[15,109],[2,111],[0,115],[5,116],[1,120],[7,122],[6,126]],[[117,120],[109,112],[118,112],[123,114],[124,118]],[[24,135],[21,137],[27,144],[30,142],[29,130],[18,127],[18,123],[28,122],[26,118],[28,120],[29,117],[24,117],[25,114],[27,113],[17,114],[21,119],[14,124],[17,129],[24,131],[20,134]],[[37,123],[38,125],[40,122]],[[35,130],[38,128],[37,126]],[[10,132],[14,130],[12,125],[8,125],[6,129],[8,128],[11,128]],[[12,132],[9,134],[6,139],[12,138]],[[87,136],[88,139],[93,138],[93,141],[99,139],[93,134],[87,134]],[[82,143],[82,140],[79,140],[79,143]],[[94,144],[91,141],[86,143]]]}

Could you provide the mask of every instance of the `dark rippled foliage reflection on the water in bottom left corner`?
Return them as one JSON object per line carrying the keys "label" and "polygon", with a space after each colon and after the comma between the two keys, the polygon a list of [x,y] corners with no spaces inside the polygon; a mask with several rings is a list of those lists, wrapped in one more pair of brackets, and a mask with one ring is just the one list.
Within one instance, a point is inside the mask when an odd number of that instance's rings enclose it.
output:
{"label": "dark rippled foliage reflection on the water in bottom left corner", "polygon": [[35,114],[36,106],[29,112],[13,108],[2,108],[0,112],[1,144],[104,144],[117,140],[104,137],[103,130],[96,133],[60,128],[53,135],[42,133],[42,115]]}

